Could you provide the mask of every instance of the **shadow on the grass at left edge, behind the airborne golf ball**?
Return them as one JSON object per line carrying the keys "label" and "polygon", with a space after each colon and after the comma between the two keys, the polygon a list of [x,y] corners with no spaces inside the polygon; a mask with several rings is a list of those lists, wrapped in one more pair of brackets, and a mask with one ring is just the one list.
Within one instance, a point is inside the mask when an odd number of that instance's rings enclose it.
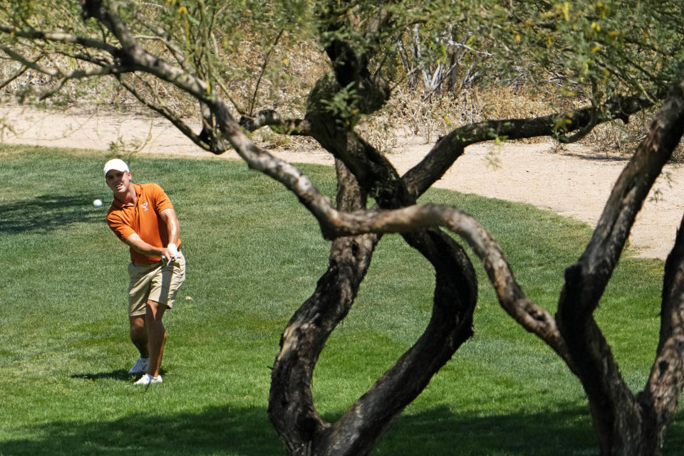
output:
{"label": "shadow on the grass at left edge, behind the airborne golf ball", "polygon": [[103,223],[107,208],[93,207],[93,200],[87,193],[40,195],[12,201],[0,204],[0,233],[44,233],[69,223]]}

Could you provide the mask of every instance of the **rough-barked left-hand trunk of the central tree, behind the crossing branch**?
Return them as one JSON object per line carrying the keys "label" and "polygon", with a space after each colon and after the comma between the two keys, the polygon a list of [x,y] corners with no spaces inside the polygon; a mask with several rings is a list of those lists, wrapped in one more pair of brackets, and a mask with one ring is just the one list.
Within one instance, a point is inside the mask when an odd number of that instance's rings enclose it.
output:
{"label": "rough-barked left-hand trunk of the central tree, behind the crossing branch", "polygon": [[[338,208],[365,207],[366,196],[346,166],[336,161],[336,170]],[[320,436],[330,424],[316,412],[311,378],[328,337],[351,309],[379,239],[379,235],[356,235],[334,240],[328,269],[281,336],[268,413],[289,455],[320,454]]]}

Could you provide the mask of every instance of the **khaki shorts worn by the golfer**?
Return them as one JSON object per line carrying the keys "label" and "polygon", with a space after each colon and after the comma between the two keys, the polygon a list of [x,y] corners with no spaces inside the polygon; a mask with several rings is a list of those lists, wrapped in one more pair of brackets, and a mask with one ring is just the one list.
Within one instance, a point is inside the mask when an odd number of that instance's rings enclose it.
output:
{"label": "khaki shorts worn by the golfer", "polygon": [[176,292],[185,282],[185,257],[180,251],[175,260],[166,266],[129,263],[128,314],[133,317],[145,314],[148,300],[173,307]]}

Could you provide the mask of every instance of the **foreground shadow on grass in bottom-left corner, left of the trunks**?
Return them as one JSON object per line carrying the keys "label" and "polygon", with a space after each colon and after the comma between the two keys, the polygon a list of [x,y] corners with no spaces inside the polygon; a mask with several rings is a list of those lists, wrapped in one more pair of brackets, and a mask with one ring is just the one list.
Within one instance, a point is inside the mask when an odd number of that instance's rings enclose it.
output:
{"label": "foreground shadow on grass in bottom-left corner, left of the trunks", "polygon": [[265,408],[212,407],[200,413],[136,413],[118,420],[58,421],[30,430],[39,438],[4,440],[0,455],[284,454]]}

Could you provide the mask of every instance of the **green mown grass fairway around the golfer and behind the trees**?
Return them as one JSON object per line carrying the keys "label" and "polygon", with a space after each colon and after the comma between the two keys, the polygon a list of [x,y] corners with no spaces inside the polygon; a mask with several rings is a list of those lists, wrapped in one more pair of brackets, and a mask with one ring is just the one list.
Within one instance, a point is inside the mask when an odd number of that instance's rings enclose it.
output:
{"label": "green mown grass fairway around the golfer and behind the trees", "polygon": [[[104,223],[103,154],[0,148],[0,455],[284,454],[266,416],[282,329],[325,270],[329,243],[274,181],[238,161],[144,159],[179,214],[187,281],[165,315],[165,383],[131,386],[128,251]],[[333,196],[334,172],[302,166]],[[100,198],[103,208],[91,201]],[[430,191],[489,227],[532,299],[554,311],[590,230],[531,206]],[[475,336],[373,455],[596,455],[579,382],[498,307],[482,268]],[[640,389],[658,329],[662,262],[624,258],[597,319]],[[378,246],[314,376],[333,420],[423,331],[433,277],[397,235]],[[679,423],[666,454],[684,445]]]}

